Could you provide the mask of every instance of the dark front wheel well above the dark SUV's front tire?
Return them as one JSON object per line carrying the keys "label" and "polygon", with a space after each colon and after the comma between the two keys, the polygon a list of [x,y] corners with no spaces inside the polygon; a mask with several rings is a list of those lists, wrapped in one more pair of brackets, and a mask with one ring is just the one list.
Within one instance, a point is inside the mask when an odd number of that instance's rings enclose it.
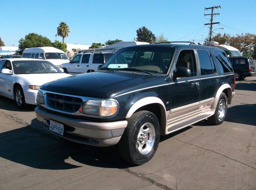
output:
{"label": "dark front wheel well above the dark SUV's front tire", "polygon": [[138,108],[138,110],[136,110],[134,113],[139,111],[149,111],[155,114],[160,124],[161,134],[165,133],[166,113],[161,104],[159,103],[147,104]]}

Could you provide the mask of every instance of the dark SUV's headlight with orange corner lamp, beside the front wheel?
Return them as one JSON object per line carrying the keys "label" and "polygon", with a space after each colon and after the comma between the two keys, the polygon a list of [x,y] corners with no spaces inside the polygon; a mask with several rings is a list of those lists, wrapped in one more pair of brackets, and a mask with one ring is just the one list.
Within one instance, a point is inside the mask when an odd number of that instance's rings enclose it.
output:
{"label": "dark SUV's headlight with orange corner lamp, beside the front wheel", "polygon": [[88,100],[82,108],[83,114],[108,117],[114,115],[118,110],[116,100]]}

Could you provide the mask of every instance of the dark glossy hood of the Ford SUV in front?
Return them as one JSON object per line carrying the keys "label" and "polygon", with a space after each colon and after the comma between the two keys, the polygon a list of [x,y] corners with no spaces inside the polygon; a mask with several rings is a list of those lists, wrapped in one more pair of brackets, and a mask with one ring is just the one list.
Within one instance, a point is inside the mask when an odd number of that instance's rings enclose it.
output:
{"label": "dark glossy hood of the Ford SUV in front", "polygon": [[77,96],[106,98],[109,93],[119,88],[136,85],[139,88],[141,84],[152,82],[155,77],[157,76],[122,72],[92,72],[62,78],[41,86],[41,89]]}

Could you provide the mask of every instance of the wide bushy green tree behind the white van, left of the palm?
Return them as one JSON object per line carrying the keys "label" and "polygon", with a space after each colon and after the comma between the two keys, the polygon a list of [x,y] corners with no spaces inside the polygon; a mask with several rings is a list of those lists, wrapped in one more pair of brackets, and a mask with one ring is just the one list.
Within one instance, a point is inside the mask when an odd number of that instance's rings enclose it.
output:
{"label": "wide bushy green tree behind the white van, left of the palm", "polygon": [[51,40],[49,38],[41,36],[36,33],[30,33],[25,36],[24,38],[21,38],[19,41],[19,49],[23,52],[25,48],[28,47],[43,47],[43,46],[53,46]]}

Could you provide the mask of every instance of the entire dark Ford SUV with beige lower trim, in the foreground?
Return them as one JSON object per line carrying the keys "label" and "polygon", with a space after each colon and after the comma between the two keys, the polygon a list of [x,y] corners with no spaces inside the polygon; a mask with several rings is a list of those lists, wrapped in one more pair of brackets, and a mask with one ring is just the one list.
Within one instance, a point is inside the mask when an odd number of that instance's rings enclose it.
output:
{"label": "entire dark Ford SUV with beige lower trim, in the foreground", "polygon": [[232,66],[220,48],[130,46],[118,50],[98,72],[42,85],[35,113],[61,138],[93,146],[118,144],[126,161],[142,165],[155,154],[160,135],[206,118],[221,124],[234,83]]}

